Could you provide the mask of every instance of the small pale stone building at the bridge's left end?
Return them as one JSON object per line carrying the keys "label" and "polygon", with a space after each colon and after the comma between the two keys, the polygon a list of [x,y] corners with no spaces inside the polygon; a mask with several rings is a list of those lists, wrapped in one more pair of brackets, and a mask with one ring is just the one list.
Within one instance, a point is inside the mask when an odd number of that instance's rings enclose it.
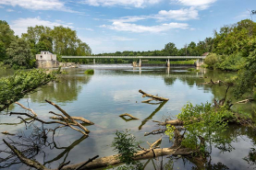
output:
{"label": "small pale stone building at the bridge's left end", "polygon": [[38,68],[55,68],[59,66],[57,56],[49,51],[41,51],[41,54],[36,54],[36,64]]}

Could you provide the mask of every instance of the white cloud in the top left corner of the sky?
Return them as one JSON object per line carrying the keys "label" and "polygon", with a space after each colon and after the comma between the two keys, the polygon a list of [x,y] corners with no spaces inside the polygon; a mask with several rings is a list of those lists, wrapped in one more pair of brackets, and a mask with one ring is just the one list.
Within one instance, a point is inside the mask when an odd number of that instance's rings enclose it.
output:
{"label": "white cloud in the top left corner of the sky", "polygon": [[58,10],[78,13],[67,8],[65,3],[59,0],[1,0],[0,5],[20,6],[31,10]]}

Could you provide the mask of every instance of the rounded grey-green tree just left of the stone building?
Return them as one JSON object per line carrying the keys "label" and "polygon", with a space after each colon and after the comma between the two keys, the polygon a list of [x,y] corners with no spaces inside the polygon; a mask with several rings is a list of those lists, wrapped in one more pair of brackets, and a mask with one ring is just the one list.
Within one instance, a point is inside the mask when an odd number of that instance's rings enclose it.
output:
{"label": "rounded grey-green tree just left of the stone building", "polygon": [[31,68],[35,64],[30,46],[24,39],[13,40],[6,49],[6,64],[14,69]]}

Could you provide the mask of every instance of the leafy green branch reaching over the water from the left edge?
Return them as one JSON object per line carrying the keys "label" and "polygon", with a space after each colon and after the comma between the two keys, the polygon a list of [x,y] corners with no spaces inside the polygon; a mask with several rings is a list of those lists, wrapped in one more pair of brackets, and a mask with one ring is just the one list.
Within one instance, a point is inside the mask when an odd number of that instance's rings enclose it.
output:
{"label": "leafy green branch reaching over the water from the left edge", "polygon": [[55,74],[43,70],[17,71],[14,75],[0,79],[0,111],[9,107],[37,87],[55,80]]}

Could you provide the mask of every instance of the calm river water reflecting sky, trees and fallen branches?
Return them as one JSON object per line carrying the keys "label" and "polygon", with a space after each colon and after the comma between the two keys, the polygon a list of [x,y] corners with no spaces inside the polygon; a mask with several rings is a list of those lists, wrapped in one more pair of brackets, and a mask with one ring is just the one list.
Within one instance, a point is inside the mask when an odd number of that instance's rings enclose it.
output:
{"label": "calm river water reflecting sky, trees and fallen branches", "polygon": [[[84,74],[87,69],[94,69],[93,75]],[[56,168],[63,162],[70,161],[76,164],[100,155],[107,156],[115,154],[111,143],[115,138],[116,130],[130,130],[138,141],[142,141],[143,147],[147,147],[146,142],[154,142],[159,137],[163,137],[161,147],[170,147],[171,143],[164,134],[150,135],[144,137],[145,132],[159,129],[152,120],[165,121],[166,118],[173,118],[180,112],[181,108],[188,102],[201,104],[213,102],[213,99],[221,99],[225,96],[225,85],[198,85],[203,82],[223,80],[236,73],[224,73],[200,69],[199,72],[188,72],[188,68],[174,67],[142,67],[133,68],[130,65],[81,65],[79,68],[66,69],[68,74],[61,75],[55,83],[44,85],[36,92],[25,96],[19,101],[26,107],[32,108],[39,118],[50,120],[53,115],[49,111],[59,113],[56,108],[46,103],[50,100],[65,109],[71,116],[79,116],[90,119],[94,125],[86,126],[91,133],[88,138],[69,128],[57,130],[55,142],[51,143],[49,133],[49,143],[42,147],[42,151],[34,157],[40,163],[49,168]],[[13,74],[10,71],[0,71],[0,77]],[[169,98],[165,104],[145,104],[141,103],[145,98],[141,97],[139,89],[152,95]],[[227,97],[233,102],[232,89]],[[254,118],[253,110],[255,103],[235,105],[233,108],[240,112],[250,114]],[[24,112],[18,105],[13,105],[9,111]],[[121,119],[119,115],[128,113],[139,120]],[[41,123],[34,123],[37,127],[42,127]],[[55,128],[56,125],[44,125],[44,128]],[[25,137],[29,138],[34,126],[26,127],[20,123],[17,116],[8,116],[6,112],[0,115],[0,131],[7,130],[18,136],[9,136],[15,142],[22,142]],[[222,152],[213,145],[211,162],[215,169],[252,169],[254,162],[246,161],[244,158],[250,153],[250,148],[255,147],[255,134],[245,127],[236,125],[224,134],[226,138],[232,139],[230,151]],[[21,138],[21,136],[23,136]],[[1,139],[9,139],[0,133]],[[2,143],[2,142],[1,142]],[[0,149],[5,149],[4,144]],[[6,153],[0,153],[0,157]],[[147,163],[145,169],[157,169],[161,160],[166,169],[192,169],[197,167],[187,159],[159,158],[158,160],[144,160]],[[18,163],[18,160],[13,162]],[[6,165],[1,163],[1,165]],[[7,165],[6,165],[7,166]],[[28,169],[24,164],[12,164],[9,169]],[[200,166],[197,169],[205,169]]]}

